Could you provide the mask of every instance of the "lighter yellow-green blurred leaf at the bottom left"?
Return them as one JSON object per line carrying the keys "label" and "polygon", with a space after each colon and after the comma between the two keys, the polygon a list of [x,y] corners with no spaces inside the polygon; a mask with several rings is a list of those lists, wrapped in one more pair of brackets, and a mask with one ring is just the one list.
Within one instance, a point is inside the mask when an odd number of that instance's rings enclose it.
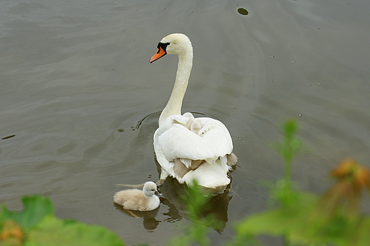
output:
{"label": "lighter yellow-green blurred leaf at the bottom left", "polygon": [[99,225],[86,225],[75,220],[46,216],[28,233],[26,246],[123,246],[115,233]]}

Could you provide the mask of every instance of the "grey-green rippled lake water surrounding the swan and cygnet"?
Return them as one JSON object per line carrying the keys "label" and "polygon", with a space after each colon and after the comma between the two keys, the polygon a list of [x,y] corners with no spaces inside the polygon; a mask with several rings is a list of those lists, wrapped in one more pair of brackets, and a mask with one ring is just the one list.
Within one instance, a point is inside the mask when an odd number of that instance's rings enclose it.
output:
{"label": "grey-green rippled lake water surrounding the swan and cygnet", "polygon": [[370,166],[366,0],[0,6],[0,203],[11,209],[22,208],[22,196],[49,196],[60,218],[104,225],[127,245],[164,245],[181,232],[187,220],[174,181],[164,184],[159,209],[143,218],[112,203],[122,188],[115,184],[159,177],[152,139],[177,58],[149,58],[169,33],[185,33],[194,46],[183,112],[226,124],[239,158],[231,191],[218,205],[225,228],[210,233],[212,245],[230,240],[240,218],[265,208],[260,181],[282,176],[272,146],[286,119],[297,119],[305,144],[293,169],[303,190],[324,191],[327,172],[346,156]]}

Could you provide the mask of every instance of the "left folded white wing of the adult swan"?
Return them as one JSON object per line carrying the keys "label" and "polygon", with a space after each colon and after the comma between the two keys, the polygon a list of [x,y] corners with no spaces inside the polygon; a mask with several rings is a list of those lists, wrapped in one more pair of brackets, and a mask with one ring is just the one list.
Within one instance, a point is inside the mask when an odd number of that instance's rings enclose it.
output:
{"label": "left folded white wing of the adult swan", "polygon": [[173,124],[162,132],[158,136],[157,144],[169,161],[177,158],[203,160],[216,157],[204,139],[181,124]]}

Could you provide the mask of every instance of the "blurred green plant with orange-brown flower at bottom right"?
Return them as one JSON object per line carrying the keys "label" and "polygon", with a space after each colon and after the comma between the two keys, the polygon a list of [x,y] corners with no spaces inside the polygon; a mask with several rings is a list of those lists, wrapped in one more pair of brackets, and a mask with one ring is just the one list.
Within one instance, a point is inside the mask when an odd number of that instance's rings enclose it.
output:
{"label": "blurred green plant with orange-brown flower at bottom right", "polygon": [[[370,172],[352,159],[332,171],[337,179],[322,196],[292,187],[292,161],[302,146],[295,137],[297,122],[285,122],[277,146],[284,160],[284,177],[270,186],[277,206],[250,215],[236,225],[233,245],[245,245],[256,235],[285,237],[285,245],[370,245],[370,217],[360,215],[363,188],[370,189]],[[252,245],[259,245],[255,240]]]}

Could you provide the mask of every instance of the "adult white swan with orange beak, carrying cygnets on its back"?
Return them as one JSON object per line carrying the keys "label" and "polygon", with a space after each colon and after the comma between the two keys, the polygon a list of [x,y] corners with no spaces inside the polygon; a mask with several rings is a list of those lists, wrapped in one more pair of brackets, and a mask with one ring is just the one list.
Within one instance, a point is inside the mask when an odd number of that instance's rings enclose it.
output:
{"label": "adult white swan with orange beak, carrying cygnets on its back", "polygon": [[160,181],[173,176],[179,183],[223,191],[230,183],[228,171],[236,164],[233,142],[225,125],[216,119],[194,118],[187,112],[181,115],[182,100],[193,65],[193,47],[187,36],[174,33],[158,43],[157,53],[149,60],[164,55],[179,55],[176,80],[171,97],[159,117],[154,133],[154,151],[161,166]]}

